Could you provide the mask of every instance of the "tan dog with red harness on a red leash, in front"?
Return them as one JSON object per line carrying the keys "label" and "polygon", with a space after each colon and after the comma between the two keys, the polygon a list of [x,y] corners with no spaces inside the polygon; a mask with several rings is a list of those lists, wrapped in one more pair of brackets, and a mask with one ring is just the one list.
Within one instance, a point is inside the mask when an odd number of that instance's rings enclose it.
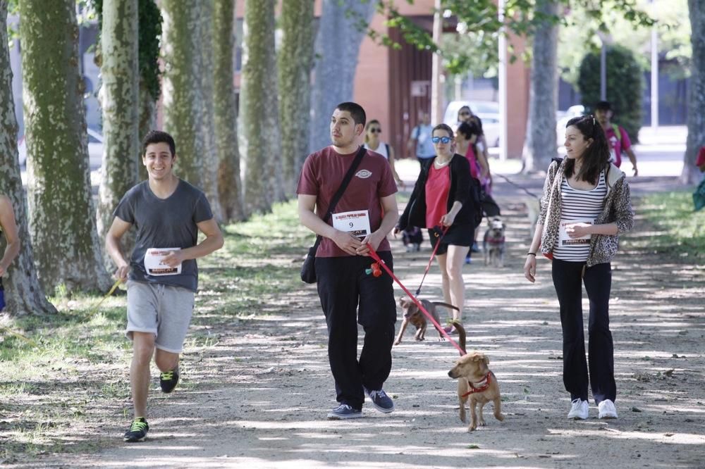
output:
{"label": "tan dog with red harness on a red leash, in front", "polygon": [[[457,325],[455,327],[458,327]],[[465,332],[465,331],[463,331]],[[465,334],[463,334],[465,335]],[[494,404],[494,417],[500,422],[504,420],[501,408],[499,384],[494,373],[489,370],[489,358],[480,352],[474,351],[458,358],[455,366],[448,372],[448,376],[458,379],[458,401],[460,401],[460,420],[467,423],[465,417],[465,402],[470,401],[470,427],[468,432],[476,430],[477,426],[484,426],[482,408],[489,401]],[[475,408],[479,404],[479,419]]]}

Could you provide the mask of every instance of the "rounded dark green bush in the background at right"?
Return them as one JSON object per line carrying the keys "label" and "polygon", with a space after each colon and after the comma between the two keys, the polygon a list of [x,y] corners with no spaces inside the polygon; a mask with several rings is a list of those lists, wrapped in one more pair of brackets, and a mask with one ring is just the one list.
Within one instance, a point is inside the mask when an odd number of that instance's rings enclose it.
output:
{"label": "rounded dark green bush in the background at right", "polygon": [[[594,49],[584,57],[580,65],[578,87],[582,104],[593,108],[600,101],[600,51]],[[627,130],[632,141],[636,141],[642,126],[642,92],[644,77],[635,54],[623,46],[607,49],[607,101],[614,110],[614,123]]]}

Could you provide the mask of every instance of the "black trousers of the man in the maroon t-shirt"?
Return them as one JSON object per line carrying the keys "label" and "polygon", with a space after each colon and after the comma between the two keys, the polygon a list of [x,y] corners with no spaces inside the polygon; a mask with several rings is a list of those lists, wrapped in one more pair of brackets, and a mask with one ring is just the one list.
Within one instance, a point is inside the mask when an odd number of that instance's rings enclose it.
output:
{"label": "black trousers of the man in the maroon t-shirt", "polygon": [[[393,268],[392,255],[379,256]],[[336,399],[362,408],[364,391],[379,390],[392,368],[392,343],[396,301],[391,277],[365,273],[371,257],[316,258],[318,294],[328,325],[328,358],[336,380]],[[357,358],[357,323],[364,329],[360,359]]]}

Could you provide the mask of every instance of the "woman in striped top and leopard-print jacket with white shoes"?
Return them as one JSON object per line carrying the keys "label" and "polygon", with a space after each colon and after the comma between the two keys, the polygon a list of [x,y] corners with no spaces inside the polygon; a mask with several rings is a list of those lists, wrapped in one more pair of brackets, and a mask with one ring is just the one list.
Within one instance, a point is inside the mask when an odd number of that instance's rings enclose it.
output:
{"label": "woman in striped top and leopard-print jacket with white shoes", "polygon": [[[609,161],[601,125],[591,115],[568,120],[566,156],[548,167],[524,276],[536,280],[536,256],[552,258],[563,332],[563,385],[570,393],[568,418],[589,416],[588,387],[599,418],[617,418],[614,344],[610,331],[611,261],[619,235],[634,226],[626,175]],[[583,284],[589,300],[585,357]]]}

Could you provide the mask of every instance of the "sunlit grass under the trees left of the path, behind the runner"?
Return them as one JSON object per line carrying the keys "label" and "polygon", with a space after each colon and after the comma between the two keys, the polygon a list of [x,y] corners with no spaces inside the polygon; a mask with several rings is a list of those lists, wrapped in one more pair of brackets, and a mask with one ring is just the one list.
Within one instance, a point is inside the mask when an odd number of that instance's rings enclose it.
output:
{"label": "sunlit grass under the trees left of the path, behind the runner", "polygon": [[[223,227],[225,246],[199,261],[197,314],[185,351],[215,346],[217,325],[234,318],[283,311],[282,292],[301,287],[299,270],[314,235],[298,222],[296,201],[272,213]],[[124,288],[124,287],[123,287]],[[90,437],[71,439],[73,429],[102,427],[131,415],[128,380],[131,343],[125,338],[125,294],[100,296],[56,292],[56,315],[28,315],[1,323],[32,343],[0,331],[0,465],[39,454],[92,451]],[[263,308],[263,304],[269,304]],[[278,308],[278,309],[277,309]],[[188,369],[188,363],[184,363]],[[153,373],[156,376],[156,373]],[[155,377],[156,379],[156,377]],[[202,383],[188,380],[184,389]],[[155,404],[156,405],[156,404]],[[79,433],[80,434],[80,433]]]}

